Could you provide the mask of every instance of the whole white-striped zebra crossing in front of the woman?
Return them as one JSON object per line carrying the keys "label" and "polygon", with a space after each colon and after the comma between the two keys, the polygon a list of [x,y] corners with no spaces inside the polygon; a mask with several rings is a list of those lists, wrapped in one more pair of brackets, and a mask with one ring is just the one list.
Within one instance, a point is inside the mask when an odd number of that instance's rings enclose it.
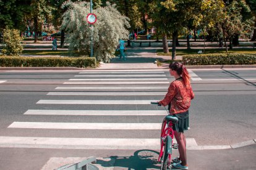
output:
{"label": "whole white-striped zebra crossing in front of the woman", "polygon": [[[148,121],[147,116],[158,116],[163,119],[166,110],[150,107],[151,101],[163,99],[172,79],[168,79],[168,71],[164,70],[87,70],[81,71],[74,78],[67,79],[48,92],[44,99],[38,100],[36,106],[47,109],[28,109],[23,115],[35,116],[38,121],[14,121],[9,129],[54,129],[61,133],[64,130],[83,131],[159,131],[161,121]],[[123,96],[123,97],[122,97]],[[83,99],[83,97],[85,97]],[[104,99],[101,99],[103,97]],[[117,99],[118,98],[118,99]],[[124,99],[122,99],[124,98]],[[122,99],[122,100],[120,100]],[[80,106],[83,110],[70,106]],[[96,109],[89,108],[97,105]],[[57,107],[56,107],[57,106]],[[113,107],[115,106],[115,107]],[[117,109],[118,106],[125,106]],[[88,109],[86,109],[88,108]],[[108,109],[105,109],[108,108]],[[111,109],[109,109],[111,108]],[[124,109],[127,108],[127,109]],[[146,108],[146,109],[145,109]],[[153,108],[147,110],[147,108]],[[40,119],[41,116],[66,116],[68,121],[56,122]],[[100,116],[106,122],[93,119],[92,122],[72,122],[69,116]],[[145,116],[145,122],[111,122],[116,116]],[[47,137],[47,136],[0,136],[0,147],[23,148],[70,148],[70,149],[155,149],[160,147],[159,136],[134,137]],[[187,146],[197,146],[194,138],[187,139]]]}

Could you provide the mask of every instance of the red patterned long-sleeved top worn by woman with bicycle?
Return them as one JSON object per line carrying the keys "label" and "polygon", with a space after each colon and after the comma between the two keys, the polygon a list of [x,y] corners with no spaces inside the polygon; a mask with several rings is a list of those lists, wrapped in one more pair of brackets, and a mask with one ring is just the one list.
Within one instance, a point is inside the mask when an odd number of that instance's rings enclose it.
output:
{"label": "red patterned long-sleeved top worn by woman with bicycle", "polygon": [[179,78],[170,84],[167,94],[159,103],[166,106],[171,102],[169,111],[174,115],[189,110],[191,99],[194,99],[192,87],[186,88],[183,79]]}

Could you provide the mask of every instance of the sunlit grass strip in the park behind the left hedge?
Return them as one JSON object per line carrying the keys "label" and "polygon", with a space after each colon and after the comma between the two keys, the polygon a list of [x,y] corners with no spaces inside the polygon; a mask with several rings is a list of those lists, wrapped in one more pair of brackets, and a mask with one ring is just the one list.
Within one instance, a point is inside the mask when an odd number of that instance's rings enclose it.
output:
{"label": "sunlit grass strip in the park behind the left hedge", "polygon": [[58,50],[58,51],[52,51],[52,50],[23,50],[22,54],[28,54],[28,55],[61,55],[61,56],[69,56],[68,51],[64,50]]}

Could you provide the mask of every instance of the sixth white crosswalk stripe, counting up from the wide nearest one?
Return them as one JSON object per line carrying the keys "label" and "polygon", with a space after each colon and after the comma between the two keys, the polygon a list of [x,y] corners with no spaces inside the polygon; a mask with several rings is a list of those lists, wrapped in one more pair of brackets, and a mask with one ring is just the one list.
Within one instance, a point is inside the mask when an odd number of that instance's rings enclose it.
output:
{"label": "sixth white crosswalk stripe, counting up from the wide nearest one", "polygon": [[100,86],[94,86],[94,87],[56,87],[55,89],[61,89],[61,90],[150,90],[150,89],[163,89],[166,91],[168,89],[168,86],[143,86],[143,87],[132,87],[132,86],[116,86],[116,87],[100,87]]}

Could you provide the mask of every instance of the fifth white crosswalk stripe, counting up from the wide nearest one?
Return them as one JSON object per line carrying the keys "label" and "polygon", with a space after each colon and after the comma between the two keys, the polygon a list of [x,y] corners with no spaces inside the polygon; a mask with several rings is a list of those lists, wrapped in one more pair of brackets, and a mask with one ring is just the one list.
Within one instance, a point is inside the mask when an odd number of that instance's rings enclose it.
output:
{"label": "fifth white crosswalk stripe, counting up from the wide nearest one", "polygon": [[47,95],[165,95],[166,92],[48,92]]}

